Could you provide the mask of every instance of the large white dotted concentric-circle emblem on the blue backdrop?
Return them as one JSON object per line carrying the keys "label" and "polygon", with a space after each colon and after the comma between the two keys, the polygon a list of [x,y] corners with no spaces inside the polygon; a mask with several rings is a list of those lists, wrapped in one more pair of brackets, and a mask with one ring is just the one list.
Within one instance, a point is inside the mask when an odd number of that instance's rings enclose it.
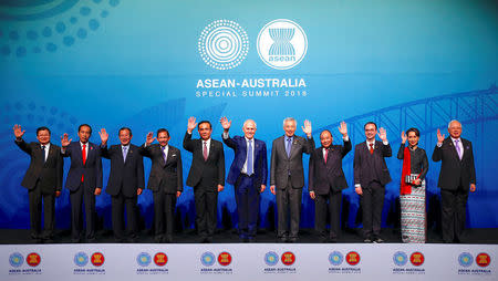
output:
{"label": "large white dotted concentric-circle emblem on the blue backdrop", "polygon": [[249,39],[237,22],[217,20],[200,33],[198,49],[207,65],[217,70],[229,70],[246,59]]}

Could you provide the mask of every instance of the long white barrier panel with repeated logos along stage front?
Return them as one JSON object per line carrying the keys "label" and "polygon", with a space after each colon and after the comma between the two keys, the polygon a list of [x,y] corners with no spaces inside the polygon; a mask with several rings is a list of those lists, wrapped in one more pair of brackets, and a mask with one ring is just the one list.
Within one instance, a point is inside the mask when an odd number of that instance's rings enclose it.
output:
{"label": "long white barrier panel with repeated logos along stage front", "polygon": [[3,244],[0,280],[498,280],[496,244]]}

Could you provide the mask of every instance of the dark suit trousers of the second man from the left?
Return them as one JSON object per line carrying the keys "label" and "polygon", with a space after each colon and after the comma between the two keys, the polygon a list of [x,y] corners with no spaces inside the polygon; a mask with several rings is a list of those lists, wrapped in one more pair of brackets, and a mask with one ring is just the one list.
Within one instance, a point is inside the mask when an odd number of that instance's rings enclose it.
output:
{"label": "dark suit trousers of the second man from the left", "polygon": [[82,201],[84,200],[86,219],[86,240],[95,239],[95,195],[92,190],[80,187],[70,192],[71,200],[71,237],[73,241],[80,241],[83,225]]}

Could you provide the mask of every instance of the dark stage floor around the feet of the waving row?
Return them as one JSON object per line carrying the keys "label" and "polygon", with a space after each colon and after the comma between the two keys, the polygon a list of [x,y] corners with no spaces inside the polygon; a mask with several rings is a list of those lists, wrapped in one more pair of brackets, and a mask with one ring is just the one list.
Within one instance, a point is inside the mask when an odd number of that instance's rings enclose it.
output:
{"label": "dark stage floor around the feet of the waving row", "polygon": [[[386,243],[401,243],[398,229],[386,228],[382,230],[382,237]],[[174,233],[174,243],[197,243],[198,237],[195,230],[189,229],[183,232]],[[53,239],[54,243],[70,243],[70,230],[56,230]],[[96,243],[114,243],[112,230],[100,230],[96,235]],[[218,229],[212,240],[214,243],[239,243],[237,231],[234,229]],[[277,242],[274,231],[259,230],[256,237],[257,243]],[[313,229],[301,229],[299,243],[320,243],[319,237]],[[363,243],[361,229],[349,229],[342,232],[339,243]],[[440,232],[436,230],[427,231],[427,243],[442,243]],[[474,244],[498,244],[498,228],[474,228],[467,229],[463,243]],[[1,244],[29,244],[34,243],[30,238],[28,229],[0,229]],[[141,232],[137,243],[154,243],[153,236],[149,230]]]}

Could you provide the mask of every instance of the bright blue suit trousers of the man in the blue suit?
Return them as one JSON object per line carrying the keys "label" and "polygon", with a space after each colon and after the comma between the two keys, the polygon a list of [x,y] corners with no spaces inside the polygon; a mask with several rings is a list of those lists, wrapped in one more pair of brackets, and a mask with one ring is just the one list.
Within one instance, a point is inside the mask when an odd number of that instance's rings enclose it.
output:
{"label": "bright blue suit trousers of the man in the blue suit", "polygon": [[259,189],[255,176],[240,174],[235,185],[237,212],[239,215],[239,237],[255,238],[259,216]]}

